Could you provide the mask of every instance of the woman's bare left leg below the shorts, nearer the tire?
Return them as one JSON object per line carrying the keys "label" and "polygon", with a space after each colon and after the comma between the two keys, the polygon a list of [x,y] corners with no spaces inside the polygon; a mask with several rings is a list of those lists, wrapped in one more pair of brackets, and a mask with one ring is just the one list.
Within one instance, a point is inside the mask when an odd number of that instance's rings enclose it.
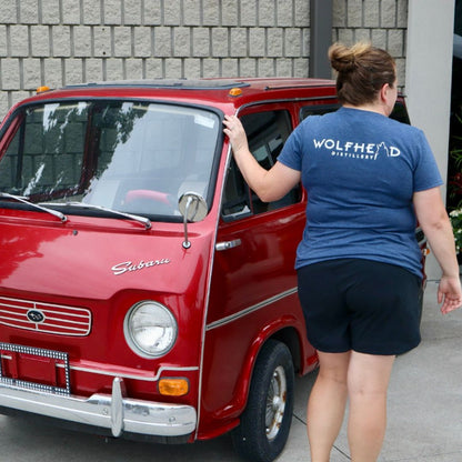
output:
{"label": "woman's bare left leg below the shorts, nearer the tire", "polygon": [[318,352],[320,369],[307,412],[311,462],[330,461],[345,411],[350,354]]}

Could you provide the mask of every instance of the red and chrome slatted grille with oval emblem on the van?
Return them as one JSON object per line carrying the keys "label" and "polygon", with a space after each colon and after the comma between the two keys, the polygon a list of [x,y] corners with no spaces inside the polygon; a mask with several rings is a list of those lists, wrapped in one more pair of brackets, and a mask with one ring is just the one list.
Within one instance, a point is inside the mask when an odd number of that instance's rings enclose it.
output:
{"label": "red and chrome slatted grille with oval emblem on the van", "polygon": [[42,333],[84,337],[90,333],[91,312],[84,308],[0,297],[0,324]]}

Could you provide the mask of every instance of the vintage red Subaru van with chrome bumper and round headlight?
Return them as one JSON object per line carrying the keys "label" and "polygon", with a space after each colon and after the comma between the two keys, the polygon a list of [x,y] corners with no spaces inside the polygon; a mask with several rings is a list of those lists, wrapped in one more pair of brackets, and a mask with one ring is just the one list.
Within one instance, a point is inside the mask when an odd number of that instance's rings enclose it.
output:
{"label": "vintage red Subaru van with chrome bumper and round headlight", "polygon": [[239,114],[271,167],[303,118],[337,108],[333,82],[309,79],[88,83],[14,106],[0,412],[157,442],[232,431],[241,456],[272,461],[294,373],[317,366],[293,269],[307,198],[261,202],[222,120]]}

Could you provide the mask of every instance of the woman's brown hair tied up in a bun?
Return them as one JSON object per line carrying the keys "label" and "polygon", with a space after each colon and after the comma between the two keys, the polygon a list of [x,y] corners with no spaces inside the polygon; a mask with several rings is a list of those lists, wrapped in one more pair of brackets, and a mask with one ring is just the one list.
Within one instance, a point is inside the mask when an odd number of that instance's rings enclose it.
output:
{"label": "woman's brown hair tied up in a bun", "polygon": [[373,102],[385,83],[393,87],[396,80],[393,58],[366,42],[352,47],[334,43],[329,48],[329,59],[338,72],[337,93],[342,104]]}

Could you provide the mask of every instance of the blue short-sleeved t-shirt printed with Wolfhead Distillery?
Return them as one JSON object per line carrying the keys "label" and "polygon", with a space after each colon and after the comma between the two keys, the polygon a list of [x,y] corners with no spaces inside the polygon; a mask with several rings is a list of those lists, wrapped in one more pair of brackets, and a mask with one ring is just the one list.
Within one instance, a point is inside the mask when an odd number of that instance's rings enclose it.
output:
{"label": "blue short-sleeved t-shirt printed with Wolfhead Distillery", "polygon": [[341,108],[307,118],[278,160],[301,171],[308,192],[295,268],[358,258],[422,277],[412,197],[442,180],[421,130]]}

